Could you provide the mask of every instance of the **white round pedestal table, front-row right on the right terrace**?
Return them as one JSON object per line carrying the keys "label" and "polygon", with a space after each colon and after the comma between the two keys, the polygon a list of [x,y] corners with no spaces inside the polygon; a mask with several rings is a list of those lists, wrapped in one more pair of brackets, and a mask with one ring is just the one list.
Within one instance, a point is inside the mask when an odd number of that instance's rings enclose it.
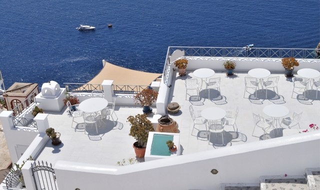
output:
{"label": "white round pedestal table, front-row right on the right terrace", "polygon": [[277,127],[279,117],[287,115],[289,113],[289,109],[284,105],[271,104],[263,107],[263,113],[272,117],[275,121],[275,126]]}

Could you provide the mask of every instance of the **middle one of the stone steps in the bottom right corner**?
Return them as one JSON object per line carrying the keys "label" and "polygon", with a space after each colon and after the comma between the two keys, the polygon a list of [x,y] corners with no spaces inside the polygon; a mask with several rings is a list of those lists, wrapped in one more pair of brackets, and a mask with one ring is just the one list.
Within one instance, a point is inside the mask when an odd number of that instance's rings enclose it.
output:
{"label": "middle one of the stone steps in the bottom right corner", "polygon": [[260,189],[308,189],[304,175],[260,176]]}

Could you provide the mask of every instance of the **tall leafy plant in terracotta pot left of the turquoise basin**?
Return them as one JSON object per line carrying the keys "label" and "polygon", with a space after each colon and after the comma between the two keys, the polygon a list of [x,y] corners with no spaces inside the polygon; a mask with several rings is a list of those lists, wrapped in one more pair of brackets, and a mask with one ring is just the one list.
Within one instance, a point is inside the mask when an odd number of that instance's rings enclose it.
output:
{"label": "tall leafy plant in terracotta pot left of the turquoise basin", "polygon": [[149,131],[154,131],[153,125],[145,114],[130,115],[127,121],[131,125],[129,135],[136,140],[132,145],[135,155],[138,158],[144,157]]}

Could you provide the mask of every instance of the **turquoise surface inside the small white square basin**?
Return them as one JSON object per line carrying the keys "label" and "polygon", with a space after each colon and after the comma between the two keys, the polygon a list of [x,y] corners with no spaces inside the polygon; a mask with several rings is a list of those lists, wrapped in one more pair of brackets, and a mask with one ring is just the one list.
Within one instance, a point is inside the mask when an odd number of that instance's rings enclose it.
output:
{"label": "turquoise surface inside the small white square basin", "polygon": [[171,155],[171,152],[166,145],[167,140],[173,141],[173,135],[153,134],[151,155]]}

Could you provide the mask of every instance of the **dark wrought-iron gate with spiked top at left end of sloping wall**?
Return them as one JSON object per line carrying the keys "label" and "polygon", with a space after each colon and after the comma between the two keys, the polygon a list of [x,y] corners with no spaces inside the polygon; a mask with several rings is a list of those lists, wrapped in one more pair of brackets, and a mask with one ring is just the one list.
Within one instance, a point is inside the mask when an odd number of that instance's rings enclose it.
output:
{"label": "dark wrought-iron gate with spiked top at left end of sloping wall", "polygon": [[45,190],[57,190],[57,183],[54,174],[54,169],[50,163],[48,166],[47,162],[37,161],[32,165],[32,175],[36,189],[45,189]]}

